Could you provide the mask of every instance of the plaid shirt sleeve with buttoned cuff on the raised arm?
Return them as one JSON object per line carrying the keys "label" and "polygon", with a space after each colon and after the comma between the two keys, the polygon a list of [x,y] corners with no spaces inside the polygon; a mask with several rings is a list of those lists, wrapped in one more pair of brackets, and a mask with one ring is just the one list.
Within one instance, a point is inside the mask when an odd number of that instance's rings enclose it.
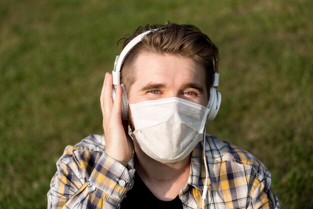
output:
{"label": "plaid shirt sleeve with buttoned cuff on the raised arm", "polygon": [[69,146],[56,163],[47,208],[118,208],[134,169],[104,152]]}

